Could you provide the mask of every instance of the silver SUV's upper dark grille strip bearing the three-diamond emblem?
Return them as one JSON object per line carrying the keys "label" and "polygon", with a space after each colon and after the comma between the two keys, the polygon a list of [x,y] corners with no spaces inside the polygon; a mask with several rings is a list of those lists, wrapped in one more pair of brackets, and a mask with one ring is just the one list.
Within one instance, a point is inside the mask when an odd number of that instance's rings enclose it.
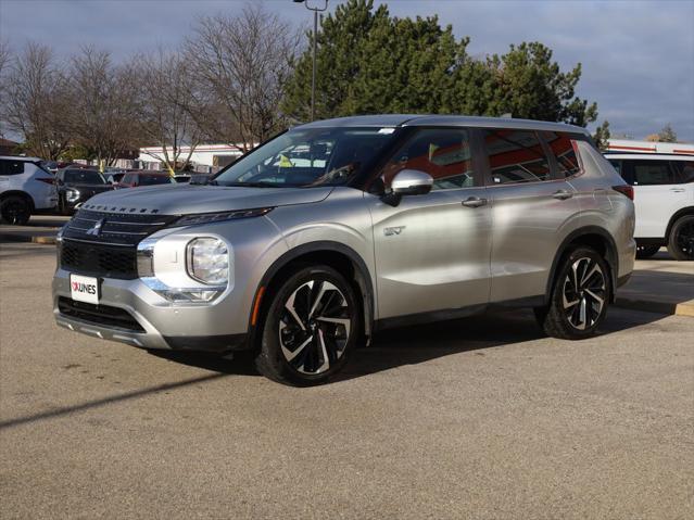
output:
{"label": "silver SUV's upper dark grille strip bearing the three-diamond emblem", "polygon": [[176,215],[155,213],[112,213],[81,208],[63,228],[63,237],[88,242],[136,245],[176,218]]}

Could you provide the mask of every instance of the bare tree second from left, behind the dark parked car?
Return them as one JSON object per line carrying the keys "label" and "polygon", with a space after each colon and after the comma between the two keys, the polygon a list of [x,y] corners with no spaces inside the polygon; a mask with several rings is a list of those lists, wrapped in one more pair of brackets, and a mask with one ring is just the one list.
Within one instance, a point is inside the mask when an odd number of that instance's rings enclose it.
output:
{"label": "bare tree second from left, behind the dark parked car", "polygon": [[138,141],[138,81],[131,65],[115,66],[108,51],[85,47],[70,68],[75,143],[112,165]]}

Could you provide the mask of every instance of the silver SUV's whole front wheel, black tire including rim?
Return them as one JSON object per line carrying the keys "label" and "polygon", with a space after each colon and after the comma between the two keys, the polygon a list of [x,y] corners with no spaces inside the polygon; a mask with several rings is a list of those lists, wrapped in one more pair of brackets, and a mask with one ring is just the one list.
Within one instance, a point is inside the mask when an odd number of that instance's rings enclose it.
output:
{"label": "silver SUV's whole front wheel, black tire including rim", "polygon": [[264,308],[255,366],[285,384],[328,381],[344,367],[362,329],[353,288],[328,266],[300,267],[269,295]]}

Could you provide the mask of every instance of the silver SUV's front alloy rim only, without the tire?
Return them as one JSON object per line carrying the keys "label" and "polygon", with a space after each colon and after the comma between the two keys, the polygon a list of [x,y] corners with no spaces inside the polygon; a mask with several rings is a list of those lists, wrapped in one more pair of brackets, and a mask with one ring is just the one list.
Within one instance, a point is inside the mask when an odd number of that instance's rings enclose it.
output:
{"label": "silver SUV's front alloy rim only, without the tire", "polygon": [[344,355],[352,329],[344,294],[326,280],[302,283],[285,302],[279,344],[287,363],[304,375],[318,375]]}

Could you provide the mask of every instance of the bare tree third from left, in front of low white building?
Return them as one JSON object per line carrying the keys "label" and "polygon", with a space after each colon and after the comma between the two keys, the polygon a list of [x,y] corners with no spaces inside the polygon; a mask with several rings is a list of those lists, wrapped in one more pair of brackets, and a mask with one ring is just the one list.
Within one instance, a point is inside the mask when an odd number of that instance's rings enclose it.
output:
{"label": "bare tree third from left, in front of low white building", "polygon": [[[142,139],[161,147],[161,153],[150,153],[164,163],[173,175],[177,165],[188,164],[200,143],[200,130],[189,110],[191,75],[188,62],[179,53],[159,49],[151,56],[138,56],[140,97],[138,121]],[[184,147],[188,150],[184,153]]]}

